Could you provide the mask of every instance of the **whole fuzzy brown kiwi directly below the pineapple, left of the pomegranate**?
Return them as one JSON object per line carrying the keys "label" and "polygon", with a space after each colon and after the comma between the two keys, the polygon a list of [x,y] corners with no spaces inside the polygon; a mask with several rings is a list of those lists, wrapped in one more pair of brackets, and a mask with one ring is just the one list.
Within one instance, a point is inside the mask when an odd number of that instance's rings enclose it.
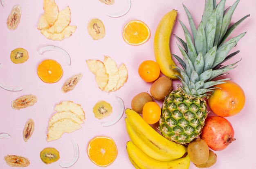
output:
{"label": "whole fuzzy brown kiwi directly below the pineapple, left of the pomegranate", "polygon": [[201,165],[204,162],[207,162],[209,158],[209,148],[207,143],[197,138],[189,143],[188,145],[188,155],[195,165]]}

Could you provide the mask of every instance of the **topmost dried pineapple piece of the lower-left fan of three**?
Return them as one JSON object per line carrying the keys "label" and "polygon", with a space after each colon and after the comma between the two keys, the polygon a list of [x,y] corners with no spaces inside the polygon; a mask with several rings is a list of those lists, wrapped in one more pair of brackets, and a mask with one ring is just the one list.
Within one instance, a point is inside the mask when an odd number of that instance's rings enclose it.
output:
{"label": "topmost dried pineapple piece of the lower-left fan of three", "polygon": [[72,101],[61,102],[60,104],[56,105],[55,111],[57,112],[71,111],[72,113],[75,113],[76,115],[78,115],[81,118],[81,120],[85,119],[85,113],[81,105],[76,104]]}

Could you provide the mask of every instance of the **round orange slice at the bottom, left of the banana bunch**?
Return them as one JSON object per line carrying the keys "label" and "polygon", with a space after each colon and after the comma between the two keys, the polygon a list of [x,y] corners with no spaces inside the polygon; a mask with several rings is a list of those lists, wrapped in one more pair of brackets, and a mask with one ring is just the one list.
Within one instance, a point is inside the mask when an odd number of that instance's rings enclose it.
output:
{"label": "round orange slice at the bottom, left of the banana bunch", "polygon": [[89,142],[87,153],[94,164],[106,167],[117,158],[117,146],[112,138],[95,137]]}

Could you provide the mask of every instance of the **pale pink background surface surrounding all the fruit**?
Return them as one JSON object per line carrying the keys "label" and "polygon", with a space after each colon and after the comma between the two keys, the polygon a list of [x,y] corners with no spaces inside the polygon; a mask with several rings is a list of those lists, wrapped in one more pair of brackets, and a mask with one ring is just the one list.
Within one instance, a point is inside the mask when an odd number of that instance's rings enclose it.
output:
{"label": "pale pink background surface surrounding all the fruit", "polygon": [[[59,10],[69,6],[71,9],[72,21],[70,25],[76,25],[76,32],[63,41],[52,41],[46,39],[36,29],[40,15],[43,13],[43,0],[6,0],[7,6],[0,6],[0,79],[7,85],[21,86],[22,91],[10,92],[0,88],[0,133],[9,133],[11,139],[0,140],[0,168],[10,169],[3,160],[7,154],[21,155],[29,158],[31,165],[28,169],[57,169],[61,168],[59,162],[67,162],[73,157],[72,139],[79,144],[80,156],[72,169],[97,169],[87,155],[88,141],[95,136],[108,136],[115,140],[118,148],[117,159],[109,169],[132,169],[127,153],[126,142],[129,139],[124,118],[111,126],[101,127],[100,120],[94,118],[92,107],[99,100],[106,100],[111,103],[114,113],[112,116],[103,119],[114,118],[119,110],[115,96],[121,97],[126,107],[130,107],[133,96],[142,91],[149,91],[151,83],[146,83],[139,78],[137,68],[144,60],[155,60],[153,54],[153,37],[155,29],[162,16],[171,9],[178,10],[178,19],[189,27],[182,3],[190,10],[196,25],[198,25],[204,8],[204,0],[132,0],[130,11],[121,18],[110,18],[106,16],[107,11],[119,11],[126,4],[124,0],[116,0],[115,5],[108,6],[99,0],[56,0]],[[233,4],[235,0],[227,0],[226,7]],[[6,26],[6,19],[11,9],[19,4],[22,7],[20,24],[15,31],[9,31]],[[217,163],[212,169],[254,169],[255,160],[255,30],[256,30],[256,2],[254,0],[241,0],[234,13],[232,22],[239,20],[247,14],[251,14],[243,22],[232,36],[247,31],[247,34],[240,40],[234,51],[240,53],[229,61],[233,63],[240,58],[243,60],[238,67],[230,71],[229,76],[237,82],[245,91],[246,104],[238,115],[227,118],[235,130],[236,141],[223,151],[216,151]],[[106,36],[102,40],[94,41],[87,32],[87,24],[90,19],[99,18],[106,28]],[[142,20],[151,30],[151,38],[140,46],[130,46],[122,38],[122,30],[129,20]],[[178,22],[176,22],[173,33],[184,39],[184,33]],[[178,51],[176,39],[171,39],[172,52],[181,56]],[[42,56],[38,49],[45,45],[57,45],[65,49],[71,56],[72,64],[67,66],[65,58],[54,51],[45,52]],[[29,60],[23,64],[13,64],[9,56],[13,49],[22,47],[29,52]],[[94,76],[88,70],[85,60],[100,59],[103,56],[112,57],[118,65],[125,63],[128,68],[128,81],[116,92],[105,93],[98,89]],[[54,84],[42,82],[36,73],[38,64],[44,59],[54,59],[63,68],[63,77]],[[61,87],[65,80],[76,73],[83,73],[83,78],[73,91],[62,93]],[[175,82],[177,84],[177,82]],[[19,111],[11,108],[11,101],[25,94],[35,94],[38,102],[29,108]],[[62,138],[46,142],[47,126],[49,118],[54,114],[54,107],[63,100],[72,100],[81,104],[85,111],[85,123],[82,128],[70,134],[64,134]],[[25,122],[32,118],[35,121],[35,131],[28,142],[24,142],[22,131]],[[45,165],[39,157],[40,151],[45,147],[55,147],[60,152],[60,160],[50,165]],[[191,169],[196,167],[191,163]]]}

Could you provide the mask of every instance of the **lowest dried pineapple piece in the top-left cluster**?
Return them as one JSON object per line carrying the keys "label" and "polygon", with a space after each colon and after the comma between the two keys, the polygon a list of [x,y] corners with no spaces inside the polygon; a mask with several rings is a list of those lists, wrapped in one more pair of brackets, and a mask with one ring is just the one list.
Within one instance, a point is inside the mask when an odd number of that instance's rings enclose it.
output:
{"label": "lowest dried pineapple piece in the top-left cluster", "polygon": [[76,31],[76,26],[67,26],[62,32],[60,33],[49,33],[47,29],[42,29],[41,33],[47,39],[51,40],[63,40],[65,38],[69,38],[74,32]]}

